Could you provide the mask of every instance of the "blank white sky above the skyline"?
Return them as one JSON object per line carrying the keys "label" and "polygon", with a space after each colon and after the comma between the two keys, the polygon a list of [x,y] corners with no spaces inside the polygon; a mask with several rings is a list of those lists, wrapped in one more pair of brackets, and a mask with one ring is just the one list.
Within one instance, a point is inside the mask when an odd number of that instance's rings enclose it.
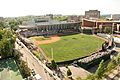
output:
{"label": "blank white sky above the skyline", "polygon": [[120,0],[1,0],[1,17],[26,15],[84,15],[88,10],[120,14]]}

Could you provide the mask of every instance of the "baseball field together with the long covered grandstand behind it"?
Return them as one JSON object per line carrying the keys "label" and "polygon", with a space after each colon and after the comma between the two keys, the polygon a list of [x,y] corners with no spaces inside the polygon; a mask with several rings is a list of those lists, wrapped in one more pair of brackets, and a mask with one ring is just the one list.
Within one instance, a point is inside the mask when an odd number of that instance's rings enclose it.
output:
{"label": "baseball field together with the long covered grandstand behind it", "polygon": [[[33,26],[34,25],[34,26]],[[19,26],[19,34],[42,49],[48,60],[69,61],[88,56],[104,42],[95,35],[80,33],[79,22],[40,22]]]}

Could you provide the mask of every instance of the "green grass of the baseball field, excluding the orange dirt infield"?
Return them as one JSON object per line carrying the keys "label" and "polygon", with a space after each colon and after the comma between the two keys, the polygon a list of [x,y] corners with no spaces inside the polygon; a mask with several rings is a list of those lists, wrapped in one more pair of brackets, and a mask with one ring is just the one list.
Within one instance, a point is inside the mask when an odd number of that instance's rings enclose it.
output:
{"label": "green grass of the baseball field, excluding the orange dirt infield", "polygon": [[56,62],[80,58],[95,52],[103,40],[93,35],[76,34],[62,36],[60,41],[42,44],[40,47],[44,50],[49,59],[51,59],[51,49],[53,48],[53,58]]}

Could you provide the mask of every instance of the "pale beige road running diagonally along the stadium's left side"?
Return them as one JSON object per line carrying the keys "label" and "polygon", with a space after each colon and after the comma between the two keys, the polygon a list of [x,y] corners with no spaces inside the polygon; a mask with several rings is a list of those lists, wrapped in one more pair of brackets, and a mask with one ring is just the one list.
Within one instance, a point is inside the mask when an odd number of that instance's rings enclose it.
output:
{"label": "pale beige road running diagonally along the stadium's left side", "polygon": [[44,68],[38,63],[38,61],[30,54],[28,50],[26,50],[25,47],[21,48],[17,43],[16,49],[18,49],[22,54],[22,59],[27,62],[28,67],[30,69],[34,69],[36,74],[39,74],[43,80],[53,80],[52,77],[50,77],[49,73],[45,73]]}

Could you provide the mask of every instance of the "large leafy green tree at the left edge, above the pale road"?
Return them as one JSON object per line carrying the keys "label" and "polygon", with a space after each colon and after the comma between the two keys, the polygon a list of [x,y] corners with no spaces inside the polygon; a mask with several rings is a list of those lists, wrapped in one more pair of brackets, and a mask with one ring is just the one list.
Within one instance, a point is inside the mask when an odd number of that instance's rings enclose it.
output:
{"label": "large leafy green tree at the left edge, above the pale road", "polygon": [[9,29],[0,30],[0,54],[2,58],[12,56],[15,36]]}

